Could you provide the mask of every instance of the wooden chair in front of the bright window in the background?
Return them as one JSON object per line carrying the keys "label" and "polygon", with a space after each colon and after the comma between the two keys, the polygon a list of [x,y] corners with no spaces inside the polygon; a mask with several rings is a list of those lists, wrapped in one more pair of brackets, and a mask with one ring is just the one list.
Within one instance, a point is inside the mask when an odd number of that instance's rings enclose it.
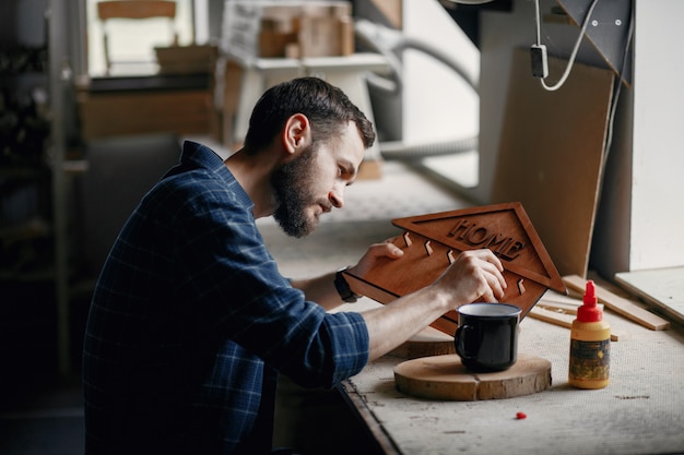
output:
{"label": "wooden chair in front of the bright window in the background", "polygon": [[[105,51],[105,63],[107,65],[107,74],[111,73],[114,64],[140,64],[140,63],[155,63],[155,61],[141,61],[141,60],[113,60],[110,49],[110,35],[111,31],[108,26],[108,22],[111,20],[131,20],[143,21],[154,19],[168,20],[173,40],[169,45],[178,44],[178,32],[176,31],[176,2],[166,0],[110,0],[101,1],[97,3],[97,16],[103,24],[103,39]],[[109,24],[111,25],[111,24]]]}

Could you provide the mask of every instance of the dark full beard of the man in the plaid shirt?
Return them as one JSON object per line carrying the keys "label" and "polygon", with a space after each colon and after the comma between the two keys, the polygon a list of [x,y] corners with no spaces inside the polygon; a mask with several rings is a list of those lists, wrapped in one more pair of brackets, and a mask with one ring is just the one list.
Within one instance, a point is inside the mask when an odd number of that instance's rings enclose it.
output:
{"label": "dark full beard of the man in the plaid shirt", "polygon": [[273,218],[292,237],[308,236],[319,223],[318,217],[306,213],[307,207],[316,203],[310,177],[315,155],[316,148],[311,145],[271,175],[275,199]]}

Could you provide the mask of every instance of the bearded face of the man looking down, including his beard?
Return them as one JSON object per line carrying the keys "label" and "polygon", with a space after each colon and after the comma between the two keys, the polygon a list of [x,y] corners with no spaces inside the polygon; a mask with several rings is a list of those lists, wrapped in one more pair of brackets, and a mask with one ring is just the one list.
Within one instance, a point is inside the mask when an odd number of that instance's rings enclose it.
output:
{"label": "bearded face of the man looking down, including his beard", "polygon": [[271,175],[275,199],[273,218],[288,236],[314,231],[320,216],[344,205],[344,189],[351,184],[365,148],[353,122],[342,135],[314,143]]}

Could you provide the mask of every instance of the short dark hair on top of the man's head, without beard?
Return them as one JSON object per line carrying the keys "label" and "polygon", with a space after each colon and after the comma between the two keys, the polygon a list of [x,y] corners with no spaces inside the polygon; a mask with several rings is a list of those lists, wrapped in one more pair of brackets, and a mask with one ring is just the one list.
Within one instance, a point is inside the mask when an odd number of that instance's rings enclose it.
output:
{"label": "short dark hair on top of the man's head, without beard", "polygon": [[297,77],[261,95],[249,118],[245,149],[257,153],[267,147],[295,113],[309,119],[314,143],[341,134],[350,120],[356,123],[366,148],[375,142],[373,124],[344,92],[318,77]]}

